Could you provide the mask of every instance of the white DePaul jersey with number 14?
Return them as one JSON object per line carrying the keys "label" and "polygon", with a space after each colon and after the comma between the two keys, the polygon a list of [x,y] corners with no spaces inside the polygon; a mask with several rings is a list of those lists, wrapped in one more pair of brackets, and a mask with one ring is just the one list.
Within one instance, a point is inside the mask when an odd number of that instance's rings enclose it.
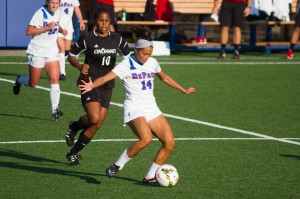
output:
{"label": "white DePaul jersey with number 14", "polygon": [[112,71],[122,80],[126,92],[125,110],[157,107],[153,95],[154,76],[161,71],[161,68],[156,59],[150,57],[147,62],[141,64],[130,55]]}

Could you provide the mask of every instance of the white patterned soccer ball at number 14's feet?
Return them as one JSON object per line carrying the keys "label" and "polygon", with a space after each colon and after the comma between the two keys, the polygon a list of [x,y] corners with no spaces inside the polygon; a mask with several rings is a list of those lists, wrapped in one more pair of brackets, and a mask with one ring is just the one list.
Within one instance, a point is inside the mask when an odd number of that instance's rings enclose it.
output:
{"label": "white patterned soccer ball at number 14's feet", "polygon": [[163,187],[176,185],[179,179],[177,169],[171,164],[161,165],[155,172],[156,181]]}

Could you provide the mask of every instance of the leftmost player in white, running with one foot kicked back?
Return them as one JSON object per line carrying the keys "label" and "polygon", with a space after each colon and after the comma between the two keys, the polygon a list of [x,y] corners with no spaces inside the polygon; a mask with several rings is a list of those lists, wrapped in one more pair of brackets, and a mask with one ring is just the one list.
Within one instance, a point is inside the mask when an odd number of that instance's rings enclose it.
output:
{"label": "leftmost player in white, running with one foot kicked back", "polygon": [[29,75],[18,75],[13,92],[18,95],[21,85],[36,87],[39,83],[43,68],[45,68],[50,83],[50,100],[52,119],[57,120],[62,116],[58,111],[60,100],[59,88],[59,61],[57,47],[57,33],[67,34],[67,30],[59,25],[60,14],[57,12],[59,0],[46,0],[46,5],[38,9],[33,15],[26,34],[32,39],[26,50]]}

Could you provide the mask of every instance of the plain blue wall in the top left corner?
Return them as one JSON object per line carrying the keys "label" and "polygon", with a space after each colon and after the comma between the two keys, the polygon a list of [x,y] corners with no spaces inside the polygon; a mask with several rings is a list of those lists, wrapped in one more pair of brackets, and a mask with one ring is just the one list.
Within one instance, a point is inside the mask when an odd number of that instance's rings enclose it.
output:
{"label": "plain blue wall in the top left corner", "polygon": [[31,36],[27,26],[44,0],[0,0],[0,47],[26,48]]}

